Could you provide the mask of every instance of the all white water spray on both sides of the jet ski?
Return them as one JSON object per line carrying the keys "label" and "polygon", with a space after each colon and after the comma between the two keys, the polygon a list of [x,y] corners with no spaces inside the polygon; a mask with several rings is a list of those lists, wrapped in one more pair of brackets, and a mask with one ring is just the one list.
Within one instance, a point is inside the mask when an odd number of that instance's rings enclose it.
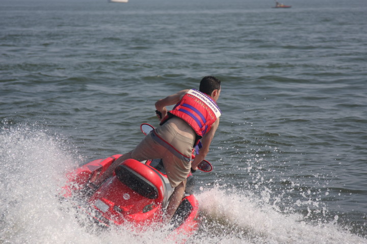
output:
{"label": "all white water spray on both sides of the jet ski", "polygon": [[[3,123],[0,131],[1,243],[173,243],[169,230],[129,226],[101,231],[57,197],[64,175],[83,160],[59,134],[40,125]],[[198,194],[202,224],[188,243],[365,243],[330,223],[279,212],[264,199],[214,186]],[[77,218],[75,218],[77,216]]]}

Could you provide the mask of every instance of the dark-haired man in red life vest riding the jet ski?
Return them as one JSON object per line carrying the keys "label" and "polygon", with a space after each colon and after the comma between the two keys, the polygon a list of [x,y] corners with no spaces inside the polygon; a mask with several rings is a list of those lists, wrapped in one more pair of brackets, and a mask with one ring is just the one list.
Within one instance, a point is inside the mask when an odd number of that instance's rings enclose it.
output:
{"label": "dark-haired man in red life vest riding the jet ski", "polygon": [[[216,101],[221,91],[220,83],[213,76],[205,76],[199,91],[182,90],[158,100],[155,108],[161,126],[149,133],[134,150],[115,160],[104,175],[111,175],[128,158],[138,161],[162,158],[168,180],[174,187],[165,214],[165,219],[169,221],[185,193],[190,168],[197,170],[218,128],[221,112]],[[173,110],[168,112],[166,106],[173,104],[176,104]],[[200,139],[202,147],[191,162],[193,148]]]}

